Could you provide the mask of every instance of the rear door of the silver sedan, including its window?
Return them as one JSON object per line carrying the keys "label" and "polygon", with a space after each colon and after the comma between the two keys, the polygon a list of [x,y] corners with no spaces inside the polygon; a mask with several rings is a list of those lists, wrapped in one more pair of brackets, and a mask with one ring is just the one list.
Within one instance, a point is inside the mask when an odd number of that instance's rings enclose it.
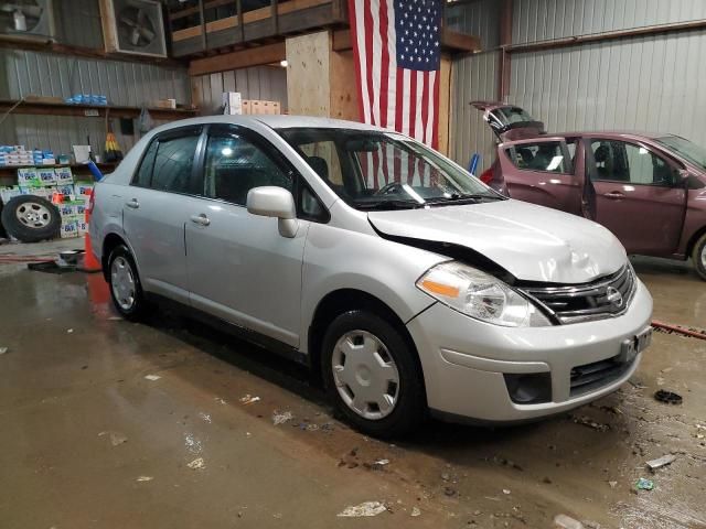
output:
{"label": "rear door of the silver sedan, including its window", "polygon": [[126,192],[122,225],[147,291],[189,302],[184,224],[203,188],[194,169],[202,127],[172,129],[146,150]]}

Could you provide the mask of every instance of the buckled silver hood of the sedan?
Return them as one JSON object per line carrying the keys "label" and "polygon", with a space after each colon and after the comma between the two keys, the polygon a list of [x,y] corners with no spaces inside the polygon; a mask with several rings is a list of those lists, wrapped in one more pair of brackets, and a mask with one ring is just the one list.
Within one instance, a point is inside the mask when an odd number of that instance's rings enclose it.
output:
{"label": "buckled silver hood of the sedan", "polygon": [[627,261],[602,226],[513,199],[371,212],[368,219],[382,234],[464,246],[523,281],[585,283]]}

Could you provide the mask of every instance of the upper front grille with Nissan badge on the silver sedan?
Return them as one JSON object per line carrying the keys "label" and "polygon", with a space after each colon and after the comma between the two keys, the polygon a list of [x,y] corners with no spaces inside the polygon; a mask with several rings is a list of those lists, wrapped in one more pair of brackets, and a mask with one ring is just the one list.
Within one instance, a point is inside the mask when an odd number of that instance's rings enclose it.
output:
{"label": "upper front grille with Nissan badge on the silver sedan", "polygon": [[520,287],[537,301],[558,323],[577,323],[618,316],[625,312],[635,291],[632,268],[585,284]]}

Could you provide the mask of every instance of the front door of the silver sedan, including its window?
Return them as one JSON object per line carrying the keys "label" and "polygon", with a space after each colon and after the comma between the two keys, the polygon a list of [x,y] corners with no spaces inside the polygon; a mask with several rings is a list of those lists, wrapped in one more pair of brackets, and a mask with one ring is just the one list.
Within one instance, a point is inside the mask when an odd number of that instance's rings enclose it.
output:
{"label": "front door of the silver sedan, including its window", "polygon": [[299,345],[301,269],[309,223],[282,237],[277,219],[247,212],[247,192],[276,185],[295,193],[295,173],[253,132],[212,126],[205,196],[188,212],[191,304],[227,322]]}

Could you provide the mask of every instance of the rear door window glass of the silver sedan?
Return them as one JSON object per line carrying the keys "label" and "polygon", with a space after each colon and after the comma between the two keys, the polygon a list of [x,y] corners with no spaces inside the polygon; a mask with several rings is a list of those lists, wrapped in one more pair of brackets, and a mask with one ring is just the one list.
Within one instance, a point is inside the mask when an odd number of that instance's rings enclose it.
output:
{"label": "rear door window glass of the silver sedan", "polygon": [[192,179],[199,134],[160,139],[150,187],[173,193],[203,194]]}

